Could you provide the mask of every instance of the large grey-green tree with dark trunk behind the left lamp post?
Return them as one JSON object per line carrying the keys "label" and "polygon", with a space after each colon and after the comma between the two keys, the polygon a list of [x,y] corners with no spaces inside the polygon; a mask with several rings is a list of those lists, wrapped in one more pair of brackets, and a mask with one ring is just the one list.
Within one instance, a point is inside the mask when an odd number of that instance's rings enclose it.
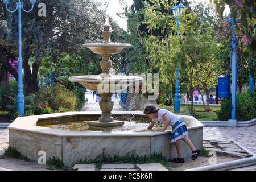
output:
{"label": "large grey-green tree with dark trunk behind the left lamp post", "polygon": [[[38,3],[46,4],[46,17],[38,16],[36,8]],[[10,9],[14,9],[15,6],[14,1],[10,3]],[[24,6],[25,9],[28,9],[29,3]],[[82,43],[99,40],[100,27],[104,22],[105,14],[98,7],[99,4],[92,0],[39,0],[31,13],[22,16],[24,90],[26,94],[38,90],[38,70],[45,55],[50,55],[51,61],[55,61],[61,52],[72,54],[79,51]],[[1,20],[6,22],[0,28],[6,30],[1,37],[0,61],[3,67],[18,80],[18,74],[11,69],[9,64],[9,58],[15,58],[18,55],[13,46],[17,45],[18,40],[18,15],[7,13],[1,6],[0,16]],[[10,46],[5,46],[3,44],[5,42]],[[31,59],[32,56],[35,56],[35,59]]]}

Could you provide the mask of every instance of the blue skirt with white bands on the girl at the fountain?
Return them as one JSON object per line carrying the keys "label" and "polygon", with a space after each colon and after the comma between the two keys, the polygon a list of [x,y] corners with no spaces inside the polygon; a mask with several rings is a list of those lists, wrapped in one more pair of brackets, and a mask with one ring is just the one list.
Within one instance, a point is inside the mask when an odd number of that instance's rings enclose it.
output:
{"label": "blue skirt with white bands on the girl at the fountain", "polygon": [[177,142],[177,140],[183,138],[183,137],[188,137],[188,130],[185,122],[183,119],[180,119],[177,121],[174,126],[172,126],[172,132],[170,135],[170,142],[174,143]]}

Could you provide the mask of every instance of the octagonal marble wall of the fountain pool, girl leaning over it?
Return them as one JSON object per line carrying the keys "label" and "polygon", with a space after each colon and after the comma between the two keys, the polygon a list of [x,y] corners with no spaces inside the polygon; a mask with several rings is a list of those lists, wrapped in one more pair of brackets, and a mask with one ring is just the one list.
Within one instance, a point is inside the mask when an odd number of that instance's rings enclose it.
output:
{"label": "octagonal marble wall of the fountain pool, girl leaning over it", "polygon": [[[150,122],[140,111],[113,112],[114,119],[121,121]],[[80,159],[96,158],[102,154],[125,155],[135,151],[137,155],[162,152],[167,159],[177,156],[174,144],[170,144],[171,131],[71,131],[44,127],[47,124],[92,121],[101,112],[68,112],[18,117],[9,126],[10,146],[29,159],[37,162],[39,151],[46,152],[46,158],[58,157],[71,166]],[[189,138],[197,148],[202,148],[203,124],[194,117],[180,115],[187,123]],[[183,156],[191,157],[190,148],[182,142]]]}

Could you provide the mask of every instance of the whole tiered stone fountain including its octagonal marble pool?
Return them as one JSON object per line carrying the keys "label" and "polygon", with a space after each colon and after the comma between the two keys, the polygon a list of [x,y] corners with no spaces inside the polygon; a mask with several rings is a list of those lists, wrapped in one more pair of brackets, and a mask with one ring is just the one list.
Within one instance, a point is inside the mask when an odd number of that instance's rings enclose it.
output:
{"label": "whole tiered stone fountain including its octagonal marble pool", "polygon": [[[102,31],[103,42],[84,44],[84,47],[102,56],[102,74],[69,78],[72,82],[78,82],[90,90],[98,90],[101,93],[101,112],[67,112],[18,117],[9,126],[10,146],[18,148],[30,160],[38,162],[42,159],[40,157],[45,156],[49,159],[55,156],[67,166],[80,159],[94,159],[102,154],[102,149],[105,149],[104,154],[110,156],[123,156],[128,152],[135,152],[139,156],[161,152],[167,159],[177,156],[174,144],[169,142],[169,129],[165,132],[147,130],[151,121],[141,111],[112,112],[111,96],[114,90],[123,90],[142,78],[110,75],[110,56],[130,46],[111,43],[111,32],[111,26],[106,21]],[[201,148],[203,124],[191,116],[180,117],[187,124],[189,138],[195,147]],[[94,127],[99,127],[100,130]],[[184,143],[181,147],[184,158],[191,157],[190,148]]]}

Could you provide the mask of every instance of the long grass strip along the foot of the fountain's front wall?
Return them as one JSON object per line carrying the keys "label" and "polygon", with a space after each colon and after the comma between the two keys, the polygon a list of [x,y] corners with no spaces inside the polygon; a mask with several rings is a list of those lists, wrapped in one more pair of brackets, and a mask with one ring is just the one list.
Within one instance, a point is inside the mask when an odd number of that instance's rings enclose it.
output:
{"label": "long grass strip along the foot of the fountain's front wall", "polygon": [[96,164],[96,168],[101,169],[102,164],[120,164],[120,163],[132,163],[132,164],[146,164],[146,163],[160,163],[168,170],[172,167],[176,167],[175,165],[168,162],[166,158],[162,155],[161,152],[154,152],[150,155],[142,155],[139,156],[135,154],[135,151],[128,152],[126,155],[119,156],[114,155],[110,156],[105,154],[104,150],[102,150],[102,154],[99,154],[95,159],[85,158],[80,159],[75,164]]}

